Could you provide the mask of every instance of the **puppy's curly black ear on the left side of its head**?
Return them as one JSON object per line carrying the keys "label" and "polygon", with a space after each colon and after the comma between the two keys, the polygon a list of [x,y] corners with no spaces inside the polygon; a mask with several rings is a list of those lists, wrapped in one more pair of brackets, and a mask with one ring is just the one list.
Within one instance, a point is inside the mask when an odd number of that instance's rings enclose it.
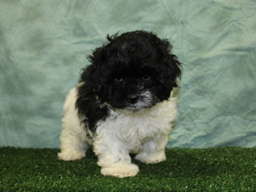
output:
{"label": "puppy's curly black ear on the left side of its head", "polygon": [[100,74],[102,66],[105,62],[103,47],[96,48],[92,55],[87,55],[87,59],[90,61],[90,65],[83,69],[81,74],[81,81],[90,85],[90,89],[95,95],[98,95],[100,89]]}

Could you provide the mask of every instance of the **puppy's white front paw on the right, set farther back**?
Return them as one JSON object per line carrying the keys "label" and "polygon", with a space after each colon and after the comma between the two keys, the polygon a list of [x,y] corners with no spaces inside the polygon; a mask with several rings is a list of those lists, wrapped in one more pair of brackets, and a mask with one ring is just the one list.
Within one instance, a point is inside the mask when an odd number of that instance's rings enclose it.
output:
{"label": "puppy's white front paw on the right, set farther back", "polygon": [[160,153],[150,154],[150,155],[142,153],[142,154],[137,154],[134,158],[146,164],[159,163],[166,160],[166,155],[165,155],[165,152],[160,152]]}

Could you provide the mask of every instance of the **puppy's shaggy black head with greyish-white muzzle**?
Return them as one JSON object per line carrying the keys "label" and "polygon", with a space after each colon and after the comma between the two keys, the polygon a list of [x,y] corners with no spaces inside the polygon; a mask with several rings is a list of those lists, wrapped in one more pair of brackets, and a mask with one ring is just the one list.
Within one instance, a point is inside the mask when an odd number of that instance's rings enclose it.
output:
{"label": "puppy's shaggy black head with greyish-white muzzle", "polygon": [[142,110],[169,98],[181,76],[181,63],[169,41],[152,32],[107,35],[108,44],[88,56],[81,79],[93,95],[113,108]]}

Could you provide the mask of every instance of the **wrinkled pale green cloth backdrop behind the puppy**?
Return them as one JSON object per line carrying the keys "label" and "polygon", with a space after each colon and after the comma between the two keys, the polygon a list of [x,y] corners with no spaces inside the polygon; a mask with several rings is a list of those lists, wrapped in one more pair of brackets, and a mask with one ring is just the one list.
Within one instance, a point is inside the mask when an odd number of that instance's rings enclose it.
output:
{"label": "wrinkled pale green cloth backdrop behind the puppy", "polygon": [[0,146],[58,147],[86,55],[137,29],[186,64],[169,147],[256,146],[255,0],[1,0]]}

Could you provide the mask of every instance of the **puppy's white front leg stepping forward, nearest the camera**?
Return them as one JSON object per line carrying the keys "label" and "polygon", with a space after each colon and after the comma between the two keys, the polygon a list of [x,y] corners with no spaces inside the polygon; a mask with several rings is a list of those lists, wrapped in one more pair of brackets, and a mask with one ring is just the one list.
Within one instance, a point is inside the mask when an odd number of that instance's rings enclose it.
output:
{"label": "puppy's white front leg stepping forward, nearest the camera", "polygon": [[101,166],[101,174],[114,177],[134,177],[139,167],[131,163],[131,157],[124,144],[111,136],[96,137],[93,151],[98,156],[97,164]]}

